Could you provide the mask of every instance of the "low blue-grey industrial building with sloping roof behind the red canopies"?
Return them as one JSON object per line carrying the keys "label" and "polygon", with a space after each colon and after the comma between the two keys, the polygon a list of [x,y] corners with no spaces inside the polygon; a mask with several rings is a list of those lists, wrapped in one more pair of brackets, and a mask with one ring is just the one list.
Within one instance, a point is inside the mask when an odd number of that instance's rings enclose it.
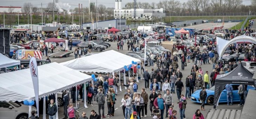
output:
{"label": "low blue-grey industrial building with sloping roof behind the red canopies", "polygon": [[126,29],[126,19],[121,19],[121,25],[120,25],[120,19],[113,19],[113,20],[105,20],[105,21],[98,21],[97,22],[88,22],[83,23],[82,28],[83,29],[107,29],[115,27],[117,29]]}

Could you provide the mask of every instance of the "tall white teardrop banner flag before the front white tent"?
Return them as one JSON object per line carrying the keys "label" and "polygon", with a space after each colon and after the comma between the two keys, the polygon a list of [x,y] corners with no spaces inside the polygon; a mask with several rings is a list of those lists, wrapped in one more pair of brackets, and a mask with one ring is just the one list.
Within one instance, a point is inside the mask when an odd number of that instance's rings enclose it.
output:
{"label": "tall white teardrop banner flag before the front white tent", "polygon": [[36,103],[36,109],[37,109],[37,114],[39,117],[39,98],[38,98],[38,70],[37,70],[37,63],[35,57],[32,57],[29,61],[29,69],[32,77],[32,82],[34,86],[34,92],[35,92],[35,103]]}

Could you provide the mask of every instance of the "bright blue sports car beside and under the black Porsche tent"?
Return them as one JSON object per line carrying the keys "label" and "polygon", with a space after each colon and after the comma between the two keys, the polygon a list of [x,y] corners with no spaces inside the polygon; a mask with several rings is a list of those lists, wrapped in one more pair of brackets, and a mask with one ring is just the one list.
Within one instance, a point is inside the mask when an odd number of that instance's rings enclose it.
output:
{"label": "bright blue sports car beside and under the black Porsche tent", "polygon": [[[232,87],[233,87],[233,102],[239,102],[240,98],[239,98],[239,95],[237,93],[239,84],[230,84],[230,85],[232,85]],[[205,103],[207,103],[208,105],[213,105],[214,90],[215,90],[215,86],[211,87],[210,89],[206,89],[207,97],[206,97],[206,102]],[[255,90],[255,87],[252,87],[252,86],[248,85],[247,90]],[[200,103],[200,96],[199,96],[200,91],[201,90],[197,90],[191,95],[191,101],[192,102]],[[221,97],[220,97],[219,103],[227,103],[227,90],[226,89],[224,89],[221,92]]]}

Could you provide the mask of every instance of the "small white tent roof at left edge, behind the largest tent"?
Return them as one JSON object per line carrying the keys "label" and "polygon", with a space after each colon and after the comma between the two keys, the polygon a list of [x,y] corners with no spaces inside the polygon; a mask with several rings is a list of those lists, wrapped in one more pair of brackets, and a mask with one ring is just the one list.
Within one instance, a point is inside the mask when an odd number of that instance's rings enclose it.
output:
{"label": "small white tent roof at left edge, behind the largest tent", "polygon": [[0,53],[0,59],[1,59],[0,68],[5,68],[5,67],[9,67],[9,66],[14,66],[14,65],[20,65],[20,61],[10,59],[1,53]]}

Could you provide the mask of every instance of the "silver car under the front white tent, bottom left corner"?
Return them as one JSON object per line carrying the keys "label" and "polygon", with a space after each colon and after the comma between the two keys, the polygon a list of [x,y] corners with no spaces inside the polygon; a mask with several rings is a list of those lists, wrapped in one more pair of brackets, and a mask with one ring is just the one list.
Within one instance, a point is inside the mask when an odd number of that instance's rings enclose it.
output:
{"label": "silver car under the front white tent, bottom left corner", "polygon": [[[34,106],[31,111],[35,111],[36,117],[38,117]],[[28,106],[12,101],[0,101],[0,115],[1,119],[28,119]]]}

